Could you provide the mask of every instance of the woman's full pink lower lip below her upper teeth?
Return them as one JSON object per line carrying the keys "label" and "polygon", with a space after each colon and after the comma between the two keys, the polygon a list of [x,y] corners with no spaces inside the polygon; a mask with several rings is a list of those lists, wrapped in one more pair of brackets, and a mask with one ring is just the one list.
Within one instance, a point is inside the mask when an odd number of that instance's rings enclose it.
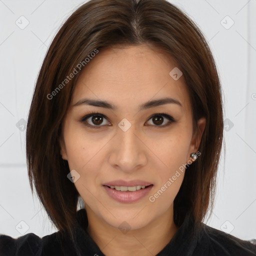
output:
{"label": "woman's full pink lower lip below her upper teeth", "polygon": [[114,200],[118,202],[136,202],[146,196],[153,185],[149,185],[148,187],[136,190],[136,191],[118,191],[115,190],[114,188],[110,188],[108,186],[103,185],[105,188],[107,194],[113,198]]}

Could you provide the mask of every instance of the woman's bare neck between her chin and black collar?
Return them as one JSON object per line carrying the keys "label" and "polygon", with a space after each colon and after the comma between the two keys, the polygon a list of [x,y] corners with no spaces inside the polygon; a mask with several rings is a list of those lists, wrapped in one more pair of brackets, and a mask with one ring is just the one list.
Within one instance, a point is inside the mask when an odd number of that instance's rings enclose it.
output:
{"label": "woman's bare neck between her chin and black collar", "polygon": [[156,255],[178,229],[173,221],[173,205],[146,226],[125,233],[98,218],[88,207],[86,212],[87,232],[106,256]]}

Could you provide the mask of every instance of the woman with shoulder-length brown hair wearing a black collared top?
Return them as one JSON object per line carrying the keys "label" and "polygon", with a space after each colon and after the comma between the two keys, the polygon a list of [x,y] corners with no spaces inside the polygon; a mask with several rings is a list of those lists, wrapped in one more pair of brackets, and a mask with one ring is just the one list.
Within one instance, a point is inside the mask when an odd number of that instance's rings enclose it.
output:
{"label": "woman with shoulder-length brown hair wearing a black collared top", "polygon": [[0,255],[256,255],[202,222],[222,132],[215,63],[183,12],[88,1],[53,39],[28,116],[30,186],[59,231],[2,234]]}

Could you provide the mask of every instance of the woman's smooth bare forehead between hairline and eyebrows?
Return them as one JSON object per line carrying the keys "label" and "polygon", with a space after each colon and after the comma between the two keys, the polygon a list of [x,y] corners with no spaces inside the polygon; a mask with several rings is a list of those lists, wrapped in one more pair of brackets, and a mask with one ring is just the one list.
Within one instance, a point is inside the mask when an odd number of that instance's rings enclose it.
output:
{"label": "woman's smooth bare forehead between hairline and eyebrows", "polygon": [[184,108],[189,108],[183,77],[174,80],[169,75],[176,66],[166,53],[147,45],[99,50],[79,75],[71,104],[89,97],[130,108],[150,99],[169,96],[183,102]]}

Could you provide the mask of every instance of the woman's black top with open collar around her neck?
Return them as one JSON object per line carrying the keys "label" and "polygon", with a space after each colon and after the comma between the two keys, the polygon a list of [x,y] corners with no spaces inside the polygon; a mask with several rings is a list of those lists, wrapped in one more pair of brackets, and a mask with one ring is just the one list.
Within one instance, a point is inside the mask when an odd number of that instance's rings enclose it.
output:
{"label": "woman's black top with open collar around her neck", "polygon": [[[14,239],[0,234],[0,256],[103,256],[86,232],[85,209],[77,211],[73,222],[74,239],[68,235],[57,239],[55,232],[42,238],[28,233]],[[255,241],[255,240],[254,240]],[[241,240],[204,223],[194,225],[187,214],[182,225],[157,256],[247,256],[256,255],[256,244]]]}

